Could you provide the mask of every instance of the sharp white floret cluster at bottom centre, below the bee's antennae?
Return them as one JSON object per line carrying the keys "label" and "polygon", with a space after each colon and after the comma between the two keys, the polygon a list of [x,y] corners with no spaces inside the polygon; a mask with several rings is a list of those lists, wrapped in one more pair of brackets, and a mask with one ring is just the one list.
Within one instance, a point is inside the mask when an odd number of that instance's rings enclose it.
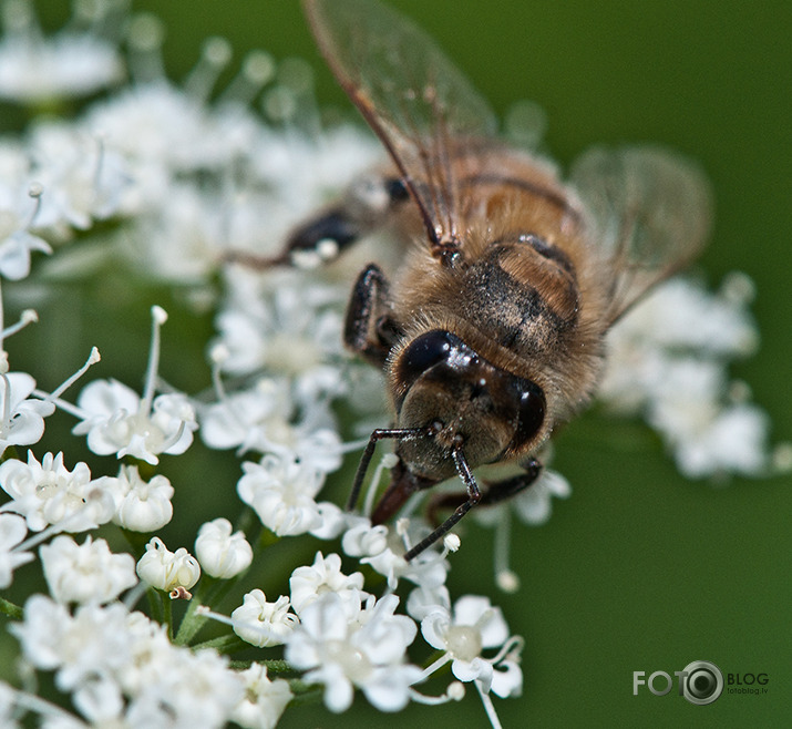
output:
{"label": "sharp white floret cluster at bottom centre, below the bee's antennae", "polygon": [[[346,711],[356,688],[382,711],[398,711],[410,700],[453,699],[459,695],[454,684],[445,697],[434,699],[413,688],[448,661],[459,681],[473,682],[483,696],[491,690],[517,696],[522,689],[522,640],[510,636],[503,615],[486,597],[460,598],[452,619],[443,581],[424,582],[410,593],[408,615],[399,615],[398,595],[377,599],[363,589],[362,573],[346,575],[340,555],[321,553],[312,565],[291,573],[289,586],[290,596],[274,603],[260,589],[248,593],[230,623],[255,646],[285,645],[286,660],[306,671],[304,680],[323,685],[331,711]],[[443,653],[426,670],[407,661],[418,623],[428,645]],[[488,648],[497,653],[484,657]]]}

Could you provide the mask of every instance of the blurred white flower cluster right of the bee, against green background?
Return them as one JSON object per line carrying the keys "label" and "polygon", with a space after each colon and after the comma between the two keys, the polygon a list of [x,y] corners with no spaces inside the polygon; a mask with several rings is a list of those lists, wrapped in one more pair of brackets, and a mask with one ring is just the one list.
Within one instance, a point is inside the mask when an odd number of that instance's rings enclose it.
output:
{"label": "blurred white flower cluster right of the bee, against green background", "polygon": [[754,351],[757,329],[747,305],[752,283],[742,274],[709,294],[671,279],[614,327],[599,398],[624,414],[642,414],[693,479],[761,475],[772,464],[769,422],[730,382],[726,364]]}

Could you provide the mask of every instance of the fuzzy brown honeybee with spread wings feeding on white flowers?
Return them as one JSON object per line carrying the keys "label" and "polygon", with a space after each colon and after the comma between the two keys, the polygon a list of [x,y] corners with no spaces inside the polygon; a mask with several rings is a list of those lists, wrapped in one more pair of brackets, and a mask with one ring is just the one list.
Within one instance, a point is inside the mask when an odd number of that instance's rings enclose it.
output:
{"label": "fuzzy brown honeybee with spread wings feeding on white flowers", "polygon": [[[371,434],[398,463],[372,513],[383,523],[415,492],[459,475],[453,513],[412,559],[476,504],[528,487],[554,428],[592,399],[608,329],[687,265],[710,226],[699,168],[656,147],[595,148],[568,181],[508,146],[484,99],[432,40],[377,0],[302,0],[319,50],[380,138],[390,165],[354,181],[300,225],[270,263],[319,260],[391,225],[413,244],[389,280],[368,265],[352,288],[349,348],[382,368],[391,428]],[[480,485],[473,470],[520,473]]]}

